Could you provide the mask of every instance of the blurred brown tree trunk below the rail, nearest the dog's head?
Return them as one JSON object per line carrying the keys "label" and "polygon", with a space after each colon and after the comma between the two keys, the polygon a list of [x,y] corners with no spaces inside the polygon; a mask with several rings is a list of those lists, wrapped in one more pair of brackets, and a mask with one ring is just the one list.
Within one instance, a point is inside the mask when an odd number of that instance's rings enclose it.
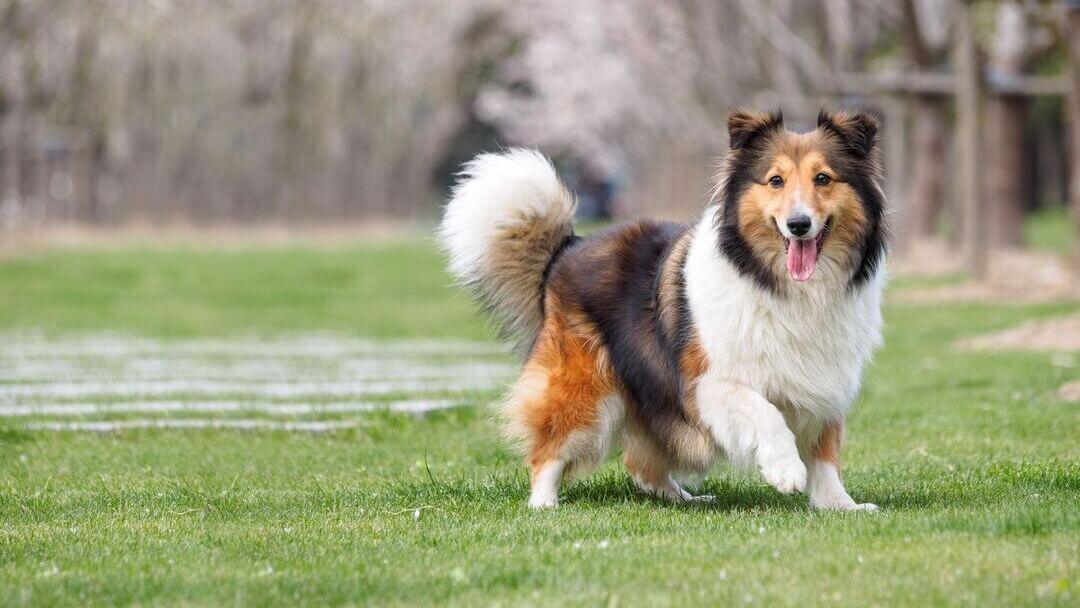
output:
{"label": "blurred brown tree trunk below the rail, nearest the dog's head", "polygon": [[907,237],[918,239],[934,234],[945,207],[946,97],[920,95],[915,98],[912,189],[907,195]]}

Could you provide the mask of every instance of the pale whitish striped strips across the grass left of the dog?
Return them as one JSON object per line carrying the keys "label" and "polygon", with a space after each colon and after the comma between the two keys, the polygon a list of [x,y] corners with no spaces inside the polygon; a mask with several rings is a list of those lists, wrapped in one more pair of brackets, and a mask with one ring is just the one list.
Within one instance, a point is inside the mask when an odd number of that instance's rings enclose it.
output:
{"label": "pale whitish striped strips across the grass left of the dog", "polygon": [[[475,403],[476,392],[503,389],[515,370],[503,347],[459,340],[376,341],[322,334],[152,340],[16,333],[0,335],[0,418],[105,418],[24,424],[42,431],[332,431],[359,422],[241,420],[230,414],[279,418],[377,410],[423,414]],[[387,401],[393,396],[402,398]],[[220,417],[175,417],[191,413]],[[153,418],[109,419],[132,414]]]}

